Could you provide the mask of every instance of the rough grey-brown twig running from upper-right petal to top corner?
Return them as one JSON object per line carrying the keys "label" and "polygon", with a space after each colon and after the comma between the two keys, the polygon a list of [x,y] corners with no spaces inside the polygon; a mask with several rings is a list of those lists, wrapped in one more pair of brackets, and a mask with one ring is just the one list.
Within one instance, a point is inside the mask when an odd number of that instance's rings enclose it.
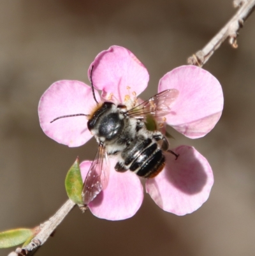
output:
{"label": "rough grey-brown twig running from upper-right petal to top corner", "polygon": [[238,30],[242,28],[245,20],[254,10],[255,0],[235,0],[233,4],[235,7],[240,7],[240,9],[202,50],[199,50],[196,54],[187,59],[188,64],[203,66],[203,64],[207,63],[212,54],[214,54],[214,51],[217,50],[227,38],[229,38],[229,43],[233,48],[238,47]]}

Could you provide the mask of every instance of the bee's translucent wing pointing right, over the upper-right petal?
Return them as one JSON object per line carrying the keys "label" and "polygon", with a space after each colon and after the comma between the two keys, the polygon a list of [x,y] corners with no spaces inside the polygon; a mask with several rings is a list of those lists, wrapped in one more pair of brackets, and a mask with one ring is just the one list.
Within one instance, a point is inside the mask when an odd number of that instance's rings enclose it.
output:
{"label": "bee's translucent wing pointing right, over the upper-right petal", "polygon": [[168,89],[154,95],[149,100],[140,105],[130,109],[127,114],[129,117],[144,119],[147,114],[153,116],[164,116],[170,111],[171,103],[173,103],[179,95],[177,89]]}

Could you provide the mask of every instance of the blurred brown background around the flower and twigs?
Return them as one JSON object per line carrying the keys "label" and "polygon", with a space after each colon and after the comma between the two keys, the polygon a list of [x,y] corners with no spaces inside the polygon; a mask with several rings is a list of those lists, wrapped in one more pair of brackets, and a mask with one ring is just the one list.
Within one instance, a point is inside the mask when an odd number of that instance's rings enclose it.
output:
{"label": "blurred brown background around the flower and twigs", "polygon": [[[131,50],[150,73],[149,88],[186,64],[236,12],[230,0],[1,0],[0,2],[0,230],[34,227],[67,200],[69,167],[92,159],[96,142],[68,148],[49,139],[38,121],[41,94],[56,80],[89,83],[87,69],[110,45]],[[36,253],[40,255],[255,254],[255,13],[238,38],[204,66],[224,91],[222,117],[195,146],[214,170],[208,201],[186,216],[166,213],[145,195],[129,220],[110,222],[73,209]],[[0,250],[7,255],[11,248]]]}

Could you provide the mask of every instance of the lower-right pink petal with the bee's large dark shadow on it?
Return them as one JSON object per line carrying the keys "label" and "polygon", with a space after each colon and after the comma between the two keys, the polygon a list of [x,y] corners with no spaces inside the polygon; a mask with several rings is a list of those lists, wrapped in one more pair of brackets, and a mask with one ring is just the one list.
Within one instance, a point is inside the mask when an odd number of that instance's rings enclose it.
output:
{"label": "lower-right pink petal with the bee's large dark shadow on it", "polygon": [[214,176],[206,158],[194,147],[180,146],[173,151],[179,158],[166,154],[166,167],[147,180],[146,190],[164,211],[186,215],[208,199]]}

